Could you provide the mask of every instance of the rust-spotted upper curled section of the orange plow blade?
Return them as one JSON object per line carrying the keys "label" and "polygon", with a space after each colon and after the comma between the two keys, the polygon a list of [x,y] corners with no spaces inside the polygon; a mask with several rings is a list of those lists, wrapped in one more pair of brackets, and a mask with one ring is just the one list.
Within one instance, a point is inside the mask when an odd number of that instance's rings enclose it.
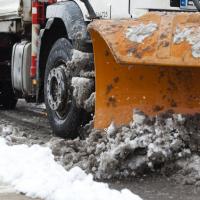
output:
{"label": "rust-spotted upper curled section of the orange plow blade", "polygon": [[[141,42],[127,36],[131,29],[153,24],[155,30]],[[195,53],[195,45],[200,43],[199,13],[149,13],[136,20],[96,20],[89,30],[101,35],[117,63],[199,67],[200,52],[196,54],[200,47]]]}

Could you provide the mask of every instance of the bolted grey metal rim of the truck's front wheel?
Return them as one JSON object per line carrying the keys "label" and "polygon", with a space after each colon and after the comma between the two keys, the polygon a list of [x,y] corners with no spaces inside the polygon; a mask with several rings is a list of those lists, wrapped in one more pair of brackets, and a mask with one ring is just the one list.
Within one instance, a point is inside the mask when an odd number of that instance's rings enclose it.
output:
{"label": "bolted grey metal rim of the truck's front wheel", "polygon": [[48,104],[60,119],[64,119],[68,113],[68,99],[65,66],[61,64],[49,72],[47,79]]}

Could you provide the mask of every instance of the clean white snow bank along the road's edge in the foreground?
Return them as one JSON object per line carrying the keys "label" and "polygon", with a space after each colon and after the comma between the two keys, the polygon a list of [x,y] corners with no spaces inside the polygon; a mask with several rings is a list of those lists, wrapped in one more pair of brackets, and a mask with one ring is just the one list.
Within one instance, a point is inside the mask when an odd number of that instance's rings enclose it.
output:
{"label": "clean white snow bank along the road's edge in the foreground", "polygon": [[109,189],[76,167],[70,171],[54,161],[51,150],[34,145],[8,146],[0,138],[0,182],[45,200],[141,200],[129,190]]}

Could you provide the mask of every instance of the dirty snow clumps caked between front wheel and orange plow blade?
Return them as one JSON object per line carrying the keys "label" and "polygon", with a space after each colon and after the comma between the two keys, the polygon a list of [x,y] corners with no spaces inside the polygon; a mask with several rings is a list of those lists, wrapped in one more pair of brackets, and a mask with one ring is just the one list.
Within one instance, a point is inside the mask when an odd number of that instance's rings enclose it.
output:
{"label": "dirty snow clumps caked between front wheel and orange plow blade", "polygon": [[65,73],[67,77],[73,77],[71,86],[77,107],[91,112],[95,97],[93,54],[78,50],[73,50],[71,53],[72,59],[66,63]]}

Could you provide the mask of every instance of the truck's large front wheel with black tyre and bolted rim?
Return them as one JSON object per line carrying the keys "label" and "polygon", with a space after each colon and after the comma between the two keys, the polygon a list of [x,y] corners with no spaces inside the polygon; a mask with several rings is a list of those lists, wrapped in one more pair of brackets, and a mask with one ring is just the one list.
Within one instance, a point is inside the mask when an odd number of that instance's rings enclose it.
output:
{"label": "truck's large front wheel with black tyre and bolted rim", "polygon": [[71,79],[74,74],[66,62],[71,60],[72,45],[61,38],[52,47],[47,59],[44,96],[47,114],[54,133],[63,138],[75,138],[83,122],[83,110],[73,100]]}

